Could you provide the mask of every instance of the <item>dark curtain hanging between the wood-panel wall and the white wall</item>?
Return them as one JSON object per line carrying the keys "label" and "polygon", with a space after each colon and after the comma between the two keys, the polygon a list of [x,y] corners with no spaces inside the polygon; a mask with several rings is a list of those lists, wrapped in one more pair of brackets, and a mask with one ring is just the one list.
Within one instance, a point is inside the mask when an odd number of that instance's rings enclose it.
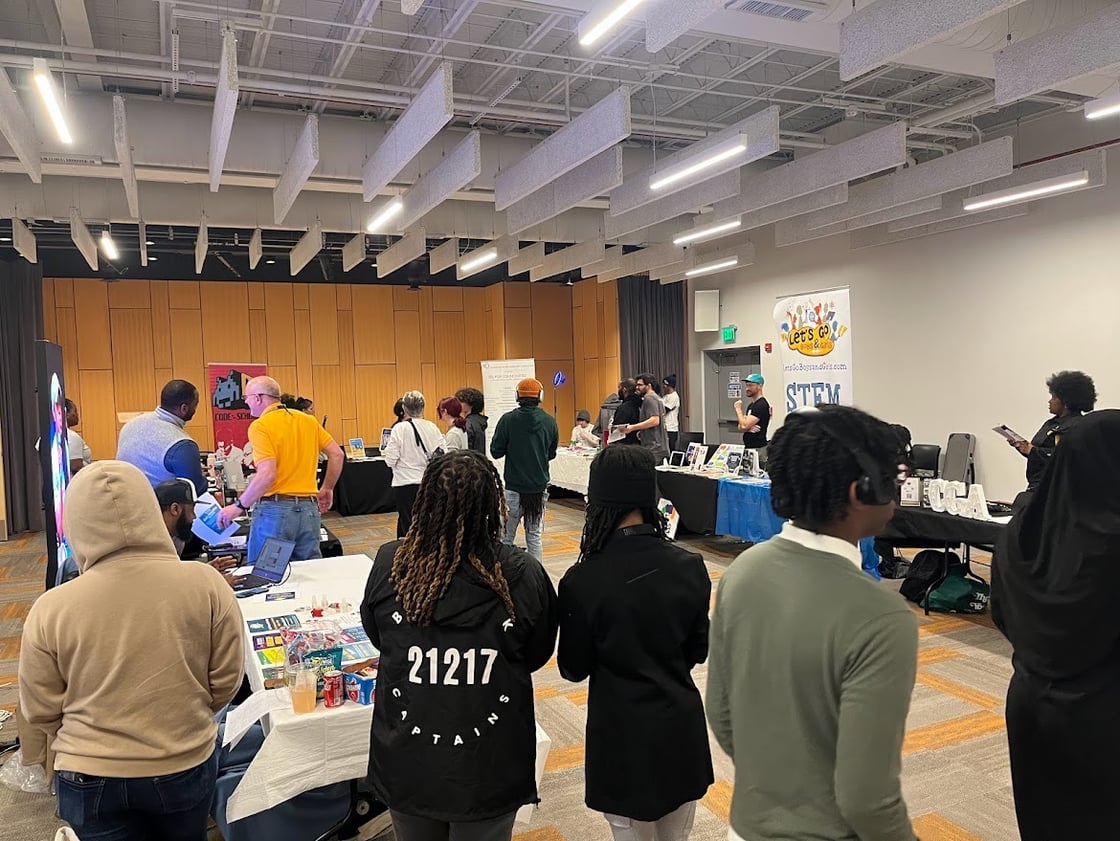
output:
{"label": "dark curtain hanging between the wood-panel wall and the white wall", "polygon": [[661,382],[676,374],[684,402],[684,283],[618,279],[618,340],[623,376],[643,372]]}

